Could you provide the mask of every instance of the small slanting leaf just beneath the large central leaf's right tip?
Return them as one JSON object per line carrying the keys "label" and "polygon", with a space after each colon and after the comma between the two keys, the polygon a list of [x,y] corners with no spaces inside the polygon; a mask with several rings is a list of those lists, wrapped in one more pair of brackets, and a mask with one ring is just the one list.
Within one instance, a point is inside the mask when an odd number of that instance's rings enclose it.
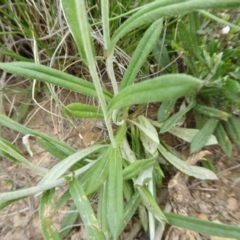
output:
{"label": "small slanting leaf just beneath the large central leaf's right tip", "polygon": [[160,133],[165,133],[169,131],[187,112],[189,112],[195,105],[195,101],[192,101],[187,107],[181,109],[179,112],[171,116],[166,122],[161,126]]}

